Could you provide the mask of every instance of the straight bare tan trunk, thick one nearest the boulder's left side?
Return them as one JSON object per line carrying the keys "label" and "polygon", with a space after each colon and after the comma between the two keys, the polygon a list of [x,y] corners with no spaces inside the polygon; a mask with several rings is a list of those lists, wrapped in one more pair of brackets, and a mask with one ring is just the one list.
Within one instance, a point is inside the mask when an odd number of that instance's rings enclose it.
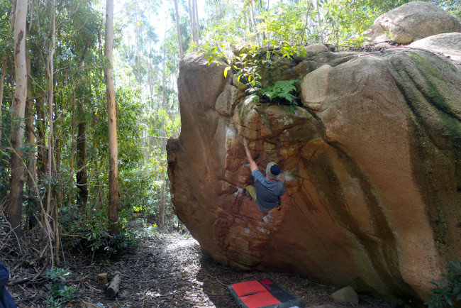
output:
{"label": "straight bare tan trunk, thick one nearest the boulder's left side", "polygon": [[117,115],[115,89],[113,87],[112,70],[113,51],[113,0],[106,0],[106,41],[104,55],[107,64],[104,67],[106,79],[107,114],[109,128],[109,230],[118,234],[118,148],[117,148]]}

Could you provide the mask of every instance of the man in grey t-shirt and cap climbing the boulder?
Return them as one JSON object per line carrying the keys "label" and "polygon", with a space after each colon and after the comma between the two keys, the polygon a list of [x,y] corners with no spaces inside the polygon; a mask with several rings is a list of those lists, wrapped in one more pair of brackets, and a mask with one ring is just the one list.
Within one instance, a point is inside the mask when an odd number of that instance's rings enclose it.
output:
{"label": "man in grey t-shirt and cap climbing the boulder", "polygon": [[274,207],[280,210],[281,202],[286,197],[285,176],[280,175],[280,167],[276,163],[270,162],[266,167],[266,176],[262,175],[252,158],[247,138],[243,138],[243,145],[245,145],[245,153],[250,162],[251,175],[255,180],[255,186],[249,185],[245,188],[245,195],[252,198],[261,211],[269,211]]}

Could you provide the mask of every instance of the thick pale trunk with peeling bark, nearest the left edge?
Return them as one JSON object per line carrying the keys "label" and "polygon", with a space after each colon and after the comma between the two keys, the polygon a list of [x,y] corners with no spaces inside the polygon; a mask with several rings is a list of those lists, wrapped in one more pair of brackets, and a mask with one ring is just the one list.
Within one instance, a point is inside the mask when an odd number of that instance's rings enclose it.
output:
{"label": "thick pale trunk with peeling bark, nearest the left edge", "polygon": [[16,3],[16,19],[14,23],[14,70],[15,85],[13,96],[14,117],[18,122],[13,124],[11,137],[11,191],[7,210],[11,229],[21,234],[21,211],[23,204],[24,170],[23,170],[23,136],[24,113],[27,98],[26,68],[26,16],[27,0]]}

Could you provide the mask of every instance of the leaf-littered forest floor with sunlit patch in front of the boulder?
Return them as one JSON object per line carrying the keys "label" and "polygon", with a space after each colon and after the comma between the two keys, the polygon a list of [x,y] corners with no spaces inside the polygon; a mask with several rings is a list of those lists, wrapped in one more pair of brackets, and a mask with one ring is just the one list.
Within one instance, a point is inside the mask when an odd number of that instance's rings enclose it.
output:
{"label": "leaf-littered forest floor with sunlit patch in front of the boulder", "polygon": [[[245,272],[219,265],[187,232],[144,232],[138,248],[116,262],[97,256],[93,259],[90,254],[67,258],[62,267],[72,271],[66,284],[79,289],[78,299],[65,307],[237,307],[227,286],[266,277],[301,299],[301,307],[352,307],[333,303],[331,294],[335,287],[299,275]],[[20,278],[20,273],[26,275],[26,269],[9,270],[12,280]],[[121,272],[120,291],[116,299],[106,299],[96,275],[115,271]],[[43,280],[11,285],[8,289],[18,307],[46,307],[43,299],[48,290]],[[399,306],[360,295],[360,304],[353,307]]]}

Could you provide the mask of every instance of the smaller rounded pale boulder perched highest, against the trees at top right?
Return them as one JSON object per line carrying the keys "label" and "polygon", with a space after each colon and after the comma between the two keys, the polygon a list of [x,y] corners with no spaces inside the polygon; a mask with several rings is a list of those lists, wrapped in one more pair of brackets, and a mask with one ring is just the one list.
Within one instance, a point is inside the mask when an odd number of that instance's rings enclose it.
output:
{"label": "smaller rounded pale boulder perched highest, against the trees at top right", "polygon": [[365,35],[374,43],[391,39],[408,45],[446,32],[461,32],[460,21],[430,2],[413,1],[379,16]]}

